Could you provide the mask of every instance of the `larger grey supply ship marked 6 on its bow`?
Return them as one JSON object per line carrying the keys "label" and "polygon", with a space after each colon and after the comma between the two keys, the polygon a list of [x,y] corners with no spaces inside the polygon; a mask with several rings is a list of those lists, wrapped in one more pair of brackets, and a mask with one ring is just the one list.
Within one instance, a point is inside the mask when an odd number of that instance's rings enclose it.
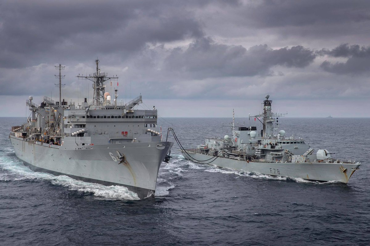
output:
{"label": "larger grey supply ship marked 6 on its bow", "polygon": [[[98,68],[91,75],[93,101],[82,105],[44,96],[36,105],[30,96],[27,123],[13,126],[10,141],[15,154],[34,171],[68,175],[76,180],[121,185],[140,199],[154,195],[159,166],[168,160],[173,143],[161,140],[157,110],[135,109],[141,95],[129,103],[117,103],[105,92],[104,82],[118,81]],[[61,66],[59,66],[60,68]],[[59,79],[61,76],[59,76]],[[59,83],[59,88],[61,88]]]}

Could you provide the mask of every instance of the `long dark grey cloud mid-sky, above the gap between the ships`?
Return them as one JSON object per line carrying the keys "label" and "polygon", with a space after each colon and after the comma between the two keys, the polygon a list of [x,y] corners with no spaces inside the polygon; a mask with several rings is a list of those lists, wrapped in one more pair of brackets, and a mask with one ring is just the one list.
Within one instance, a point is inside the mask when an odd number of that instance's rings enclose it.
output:
{"label": "long dark grey cloud mid-sky, above the gap between the ships", "polygon": [[273,66],[302,68],[316,58],[314,51],[302,46],[272,49],[255,45],[246,49],[241,45],[225,45],[211,38],[201,38],[188,48],[173,49],[165,60],[165,67],[195,78],[225,76],[270,75]]}

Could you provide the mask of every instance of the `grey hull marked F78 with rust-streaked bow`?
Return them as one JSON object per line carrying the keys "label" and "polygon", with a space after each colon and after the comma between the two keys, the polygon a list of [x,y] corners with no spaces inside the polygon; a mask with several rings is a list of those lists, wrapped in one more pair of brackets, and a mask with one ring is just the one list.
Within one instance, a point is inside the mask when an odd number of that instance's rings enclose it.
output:
{"label": "grey hull marked F78 with rust-streaked bow", "polygon": [[[200,160],[200,163],[209,163],[211,156],[191,153],[188,154]],[[188,154],[183,153],[185,159],[189,160]],[[204,160],[204,161],[203,161]],[[208,160],[208,161],[205,161]],[[360,163],[344,164],[344,163],[263,163],[252,161],[239,161],[229,158],[217,158],[209,165],[229,168],[233,170],[243,170],[246,172],[255,172],[259,174],[289,177],[289,178],[302,178],[305,180],[315,181],[337,181],[347,183],[349,178],[356,171]],[[341,166],[343,168],[341,168]],[[345,168],[345,170],[344,170]],[[343,171],[344,170],[344,171]]]}

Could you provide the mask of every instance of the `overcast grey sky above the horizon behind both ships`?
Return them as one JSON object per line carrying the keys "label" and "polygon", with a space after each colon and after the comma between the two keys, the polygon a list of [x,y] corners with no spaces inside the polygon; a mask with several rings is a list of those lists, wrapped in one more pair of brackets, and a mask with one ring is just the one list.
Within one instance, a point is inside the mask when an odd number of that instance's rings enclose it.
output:
{"label": "overcast grey sky above the horizon behind both ships", "polygon": [[58,64],[63,98],[91,101],[91,82],[75,76],[97,58],[118,75],[119,101],[141,93],[162,117],[245,117],[266,93],[290,117],[370,116],[369,0],[0,0],[0,10],[0,116],[28,116],[30,95],[59,100]]}

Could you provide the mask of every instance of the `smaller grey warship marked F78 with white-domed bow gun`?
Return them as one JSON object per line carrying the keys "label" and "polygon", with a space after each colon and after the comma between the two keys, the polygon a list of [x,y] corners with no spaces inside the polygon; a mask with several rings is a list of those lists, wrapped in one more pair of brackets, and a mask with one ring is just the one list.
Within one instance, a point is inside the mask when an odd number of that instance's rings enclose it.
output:
{"label": "smaller grey warship marked F78 with white-domed bow gun", "polygon": [[359,169],[360,162],[332,158],[326,149],[319,149],[314,154],[304,139],[296,139],[293,135],[286,137],[284,130],[278,131],[278,117],[283,115],[272,113],[272,100],[269,95],[265,98],[263,114],[253,116],[255,120],[262,120],[260,132],[255,126],[235,130],[233,116],[231,137],[207,138],[195,149],[182,149],[182,155],[196,163],[233,170],[347,183]]}

